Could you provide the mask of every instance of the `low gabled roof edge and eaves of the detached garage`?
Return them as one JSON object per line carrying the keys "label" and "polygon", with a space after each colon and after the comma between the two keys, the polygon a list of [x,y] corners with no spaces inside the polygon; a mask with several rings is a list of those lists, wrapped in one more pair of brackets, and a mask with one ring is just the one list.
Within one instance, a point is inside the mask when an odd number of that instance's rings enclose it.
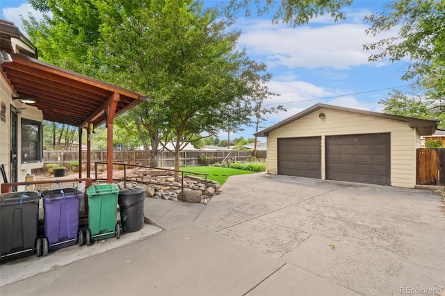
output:
{"label": "low gabled roof edge and eaves of the detached garage", "polygon": [[433,133],[435,133],[436,127],[439,124],[439,122],[436,122],[435,120],[419,120],[417,118],[405,117],[405,116],[400,116],[400,115],[391,115],[391,114],[387,114],[387,113],[378,113],[378,112],[346,108],[346,107],[340,107],[340,106],[334,106],[334,105],[328,105],[328,104],[316,104],[312,107],[307,108],[306,110],[302,110],[302,112],[300,112],[296,115],[293,115],[293,116],[287,118],[286,120],[278,122],[277,124],[274,124],[273,126],[270,126],[267,129],[259,131],[258,133],[255,134],[255,136],[267,137],[271,131],[275,131],[275,129],[280,129],[280,127],[285,126],[286,124],[289,124],[291,122],[294,122],[294,121],[300,119],[301,117],[305,117],[306,115],[309,115],[310,113],[313,113],[316,110],[320,110],[321,108],[339,110],[339,111],[351,112],[351,113],[358,113],[358,114],[374,116],[374,117],[381,117],[381,118],[386,118],[389,120],[405,121],[410,124],[410,127],[413,127],[413,128],[415,127],[419,131],[419,133],[421,133],[421,135],[432,135]]}

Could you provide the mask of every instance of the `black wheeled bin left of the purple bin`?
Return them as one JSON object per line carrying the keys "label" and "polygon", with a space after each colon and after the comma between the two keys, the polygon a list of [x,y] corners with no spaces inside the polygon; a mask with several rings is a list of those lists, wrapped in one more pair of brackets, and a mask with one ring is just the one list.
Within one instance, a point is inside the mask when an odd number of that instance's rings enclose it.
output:
{"label": "black wheeled bin left of the purple bin", "polygon": [[40,193],[0,195],[0,263],[35,254]]}

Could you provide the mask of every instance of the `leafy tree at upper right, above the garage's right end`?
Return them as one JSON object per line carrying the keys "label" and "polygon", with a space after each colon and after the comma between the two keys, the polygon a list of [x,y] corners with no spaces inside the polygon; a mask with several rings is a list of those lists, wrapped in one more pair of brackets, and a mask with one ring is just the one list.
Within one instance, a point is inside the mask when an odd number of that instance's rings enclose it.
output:
{"label": "leafy tree at upper right, above the garage's right end", "polygon": [[[370,61],[389,58],[389,61],[409,58],[411,63],[401,79],[414,80],[414,97],[393,92],[382,102],[393,112],[403,106],[403,114],[445,120],[445,2],[435,0],[398,0],[385,4],[382,13],[365,17],[371,23],[366,33],[378,35],[398,28],[398,35],[378,42],[364,44],[364,49],[377,51]],[[419,99],[421,97],[422,99]],[[398,102],[400,100],[400,102]],[[423,106],[425,105],[425,106]],[[417,115],[412,110],[421,108]],[[428,115],[423,113],[428,110]],[[406,113],[405,113],[406,111]],[[400,112],[399,112],[400,113]],[[442,123],[442,126],[445,126]]]}

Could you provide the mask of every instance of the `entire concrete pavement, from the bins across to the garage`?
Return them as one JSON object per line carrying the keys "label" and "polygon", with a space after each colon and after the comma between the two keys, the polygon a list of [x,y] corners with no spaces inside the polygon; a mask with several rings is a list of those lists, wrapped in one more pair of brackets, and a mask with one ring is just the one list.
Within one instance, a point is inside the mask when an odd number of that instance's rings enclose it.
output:
{"label": "entire concrete pavement, from the bins across to the garage", "polygon": [[0,265],[0,294],[443,293],[445,216],[429,191],[266,174],[232,176],[222,191],[207,206],[147,198],[161,228],[71,263],[55,260],[62,250],[26,259],[42,273],[22,281],[9,278],[24,262]]}

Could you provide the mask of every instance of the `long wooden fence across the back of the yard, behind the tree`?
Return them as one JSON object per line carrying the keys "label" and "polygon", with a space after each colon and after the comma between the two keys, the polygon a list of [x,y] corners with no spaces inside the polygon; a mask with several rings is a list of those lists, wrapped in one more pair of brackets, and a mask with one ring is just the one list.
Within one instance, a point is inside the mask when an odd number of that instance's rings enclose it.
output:
{"label": "long wooden fence across the back of the yard, behind the tree", "polygon": [[[91,162],[106,162],[106,151],[91,151]],[[70,162],[78,161],[79,151],[77,150],[48,150],[43,152],[43,162],[57,163],[71,170]],[[257,151],[259,161],[266,160],[266,151]],[[197,166],[205,165],[205,160],[209,164],[222,163],[223,161],[252,161],[252,151],[220,150],[220,151],[180,151],[179,166]],[[86,151],[82,151],[82,161],[86,162]],[[150,163],[149,151],[129,150],[113,151],[113,162],[128,163],[132,165],[146,165],[158,167],[175,166],[175,154],[170,151],[163,151],[159,156],[157,165]],[[44,174],[46,168],[33,169],[32,174]]]}

